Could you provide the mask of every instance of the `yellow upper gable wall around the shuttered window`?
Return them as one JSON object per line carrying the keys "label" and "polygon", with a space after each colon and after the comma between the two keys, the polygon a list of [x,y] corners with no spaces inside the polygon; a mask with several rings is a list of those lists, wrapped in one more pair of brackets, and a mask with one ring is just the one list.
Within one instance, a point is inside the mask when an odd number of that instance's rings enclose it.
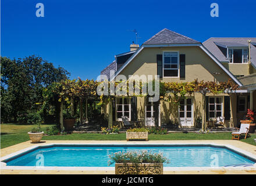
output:
{"label": "yellow upper gable wall around the shuttered window", "polygon": [[[164,47],[164,48],[144,48],[138,55],[123,69],[120,74],[125,75],[156,75],[157,74],[157,54],[163,51],[178,51],[179,54],[186,54],[186,78],[165,78],[163,81],[226,81],[229,76],[212,60],[200,47]],[[219,72],[221,74],[214,74]]]}

